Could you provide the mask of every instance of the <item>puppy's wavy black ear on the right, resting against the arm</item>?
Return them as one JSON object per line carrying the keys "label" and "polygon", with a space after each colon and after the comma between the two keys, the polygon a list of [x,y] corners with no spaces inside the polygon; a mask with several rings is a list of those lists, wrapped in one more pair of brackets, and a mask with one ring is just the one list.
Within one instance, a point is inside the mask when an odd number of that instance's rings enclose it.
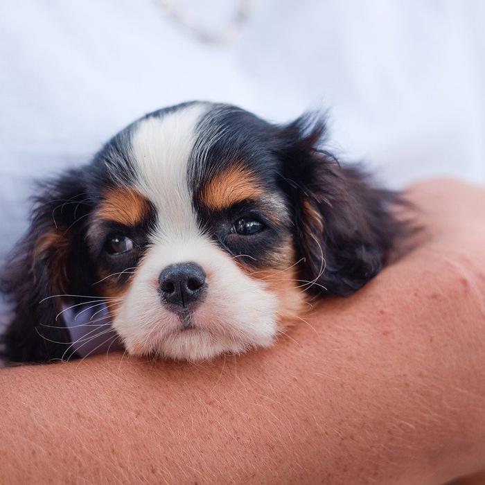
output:
{"label": "puppy's wavy black ear on the right, resting against the arm", "polygon": [[398,194],[321,150],[323,118],[303,116],[283,128],[283,138],[301,279],[313,282],[306,288],[314,294],[351,294],[379,272],[405,231],[391,212]]}

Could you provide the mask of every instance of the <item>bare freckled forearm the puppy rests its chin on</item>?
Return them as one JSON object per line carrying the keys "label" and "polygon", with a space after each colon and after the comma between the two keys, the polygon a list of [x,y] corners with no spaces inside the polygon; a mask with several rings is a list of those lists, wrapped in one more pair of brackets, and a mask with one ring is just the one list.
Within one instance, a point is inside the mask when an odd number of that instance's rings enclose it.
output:
{"label": "bare freckled forearm the puppy rests its chin on", "polygon": [[1,482],[439,484],[485,468],[485,189],[409,198],[418,248],[272,349],[1,371]]}

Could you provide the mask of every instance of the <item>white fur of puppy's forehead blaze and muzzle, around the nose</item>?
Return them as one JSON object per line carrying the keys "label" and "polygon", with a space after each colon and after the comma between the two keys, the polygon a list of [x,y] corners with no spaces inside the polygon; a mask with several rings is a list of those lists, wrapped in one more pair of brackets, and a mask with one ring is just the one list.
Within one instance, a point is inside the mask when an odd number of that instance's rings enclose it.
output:
{"label": "white fur of puppy's forehead blaze and muzzle, around the nose", "polygon": [[[201,360],[267,346],[276,335],[274,293],[249,278],[197,224],[188,159],[195,125],[208,108],[191,105],[145,119],[132,134],[136,188],[154,204],[157,229],[113,322],[130,353]],[[180,329],[158,293],[161,270],[184,262],[200,265],[207,283],[206,298],[193,312],[195,328],[188,330]]]}

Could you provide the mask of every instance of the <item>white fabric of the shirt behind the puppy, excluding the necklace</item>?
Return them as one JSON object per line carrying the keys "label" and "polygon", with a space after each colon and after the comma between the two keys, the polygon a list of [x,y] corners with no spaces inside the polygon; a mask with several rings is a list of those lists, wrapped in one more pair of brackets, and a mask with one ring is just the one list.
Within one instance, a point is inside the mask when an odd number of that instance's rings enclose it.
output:
{"label": "white fabric of the shirt behind the puppy, excluding the necklace", "polygon": [[[178,4],[209,26],[233,6]],[[218,47],[155,0],[1,1],[0,260],[26,227],[33,178],[183,100],[272,121],[330,108],[332,147],[391,186],[438,174],[484,182],[484,21],[481,0],[255,0],[243,35]]]}

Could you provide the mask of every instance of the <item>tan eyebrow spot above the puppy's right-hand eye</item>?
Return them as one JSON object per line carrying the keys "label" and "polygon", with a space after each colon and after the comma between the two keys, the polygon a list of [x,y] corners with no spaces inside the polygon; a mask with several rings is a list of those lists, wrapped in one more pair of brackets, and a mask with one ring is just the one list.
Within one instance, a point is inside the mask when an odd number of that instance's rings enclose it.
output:
{"label": "tan eyebrow spot above the puppy's right-hand eye", "polygon": [[231,166],[215,175],[202,188],[202,202],[210,209],[221,210],[243,200],[257,199],[263,195],[254,173],[239,165]]}

